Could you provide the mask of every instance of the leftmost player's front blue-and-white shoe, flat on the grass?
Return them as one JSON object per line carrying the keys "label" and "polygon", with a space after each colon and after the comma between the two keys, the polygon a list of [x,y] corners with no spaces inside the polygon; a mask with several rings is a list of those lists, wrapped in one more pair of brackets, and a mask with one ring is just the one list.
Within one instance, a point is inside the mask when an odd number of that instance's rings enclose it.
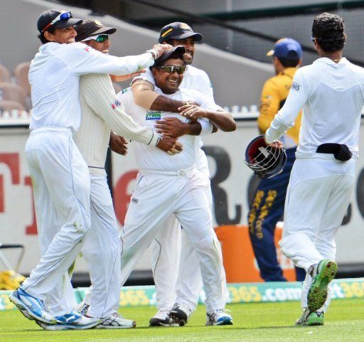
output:
{"label": "leftmost player's front blue-and-white shoe, flat on the grass", "polygon": [[44,330],[58,331],[58,330],[84,330],[90,329],[97,324],[100,324],[100,319],[94,319],[91,317],[85,317],[77,312],[72,311],[70,314],[63,316],[56,316],[57,324],[44,324],[41,321],[36,320],[36,324],[41,326]]}

